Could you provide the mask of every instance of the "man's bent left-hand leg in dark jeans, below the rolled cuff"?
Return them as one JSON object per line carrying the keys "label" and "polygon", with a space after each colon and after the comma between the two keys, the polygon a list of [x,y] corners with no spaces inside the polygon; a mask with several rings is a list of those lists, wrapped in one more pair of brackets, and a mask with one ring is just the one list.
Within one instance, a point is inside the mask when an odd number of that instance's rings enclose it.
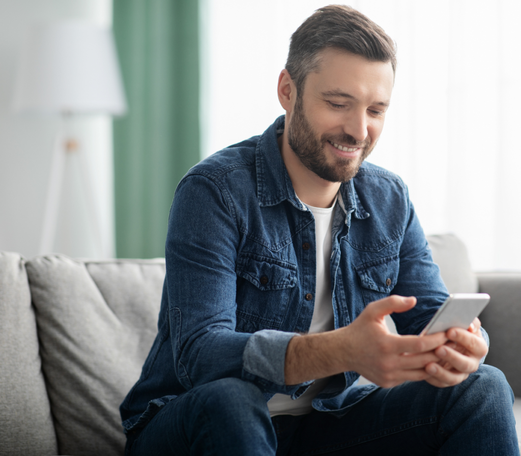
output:
{"label": "man's bent left-hand leg in dark jeans, below the rolled cuff", "polygon": [[255,385],[224,378],[167,403],[135,440],[132,454],[228,454],[231,448],[253,454],[252,441],[261,449],[255,454],[275,454],[266,399]]}

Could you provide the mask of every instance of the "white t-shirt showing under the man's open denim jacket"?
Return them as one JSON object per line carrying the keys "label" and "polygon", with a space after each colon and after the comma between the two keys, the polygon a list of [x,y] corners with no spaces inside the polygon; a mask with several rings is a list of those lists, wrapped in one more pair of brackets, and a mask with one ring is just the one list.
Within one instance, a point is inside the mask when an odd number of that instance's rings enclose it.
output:
{"label": "white t-shirt showing under the man's open denim jacket", "polygon": [[[315,245],[317,252],[317,276],[315,288],[315,307],[309,332],[323,332],[334,329],[333,304],[331,297],[331,274],[329,261],[331,257],[331,228],[333,225],[333,209],[337,200],[328,208],[313,207],[305,204],[315,217]],[[329,378],[315,380],[299,399],[291,399],[288,395],[276,394],[268,401],[270,416],[304,415],[313,410],[313,399],[326,386]]]}

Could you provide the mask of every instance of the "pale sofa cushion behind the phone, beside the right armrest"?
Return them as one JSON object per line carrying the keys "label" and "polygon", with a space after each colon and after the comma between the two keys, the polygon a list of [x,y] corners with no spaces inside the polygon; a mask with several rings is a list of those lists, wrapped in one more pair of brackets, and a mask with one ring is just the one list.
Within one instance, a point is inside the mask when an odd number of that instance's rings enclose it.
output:
{"label": "pale sofa cushion behind the phone, beside the right armrest", "polygon": [[477,293],[478,279],[463,241],[453,234],[427,236],[427,241],[449,293]]}

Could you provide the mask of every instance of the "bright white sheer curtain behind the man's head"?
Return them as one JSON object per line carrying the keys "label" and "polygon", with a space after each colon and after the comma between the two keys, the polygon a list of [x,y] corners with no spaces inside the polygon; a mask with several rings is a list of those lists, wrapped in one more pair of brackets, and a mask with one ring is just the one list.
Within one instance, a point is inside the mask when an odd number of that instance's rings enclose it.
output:
{"label": "bright white sheer curtain behind the man's head", "polygon": [[[316,0],[202,0],[204,156],[259,134],[291,33]],[[407,183],[427,234],[454,232],[476,270],[521,269],[521,2],[358,0],[398,45],[369,161]]]}

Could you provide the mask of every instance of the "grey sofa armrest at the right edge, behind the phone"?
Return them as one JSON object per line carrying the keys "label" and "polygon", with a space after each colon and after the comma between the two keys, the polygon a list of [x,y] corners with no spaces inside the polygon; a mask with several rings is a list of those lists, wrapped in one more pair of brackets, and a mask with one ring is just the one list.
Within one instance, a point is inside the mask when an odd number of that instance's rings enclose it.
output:
{"label": "grey sofa armrest at the right edge, behind the phone", "polygon": [[479,273],[480,293],[490,303],[480,315],[490,337],[485,363],[501,369],[515,396],[521,396],[521,273]]}

